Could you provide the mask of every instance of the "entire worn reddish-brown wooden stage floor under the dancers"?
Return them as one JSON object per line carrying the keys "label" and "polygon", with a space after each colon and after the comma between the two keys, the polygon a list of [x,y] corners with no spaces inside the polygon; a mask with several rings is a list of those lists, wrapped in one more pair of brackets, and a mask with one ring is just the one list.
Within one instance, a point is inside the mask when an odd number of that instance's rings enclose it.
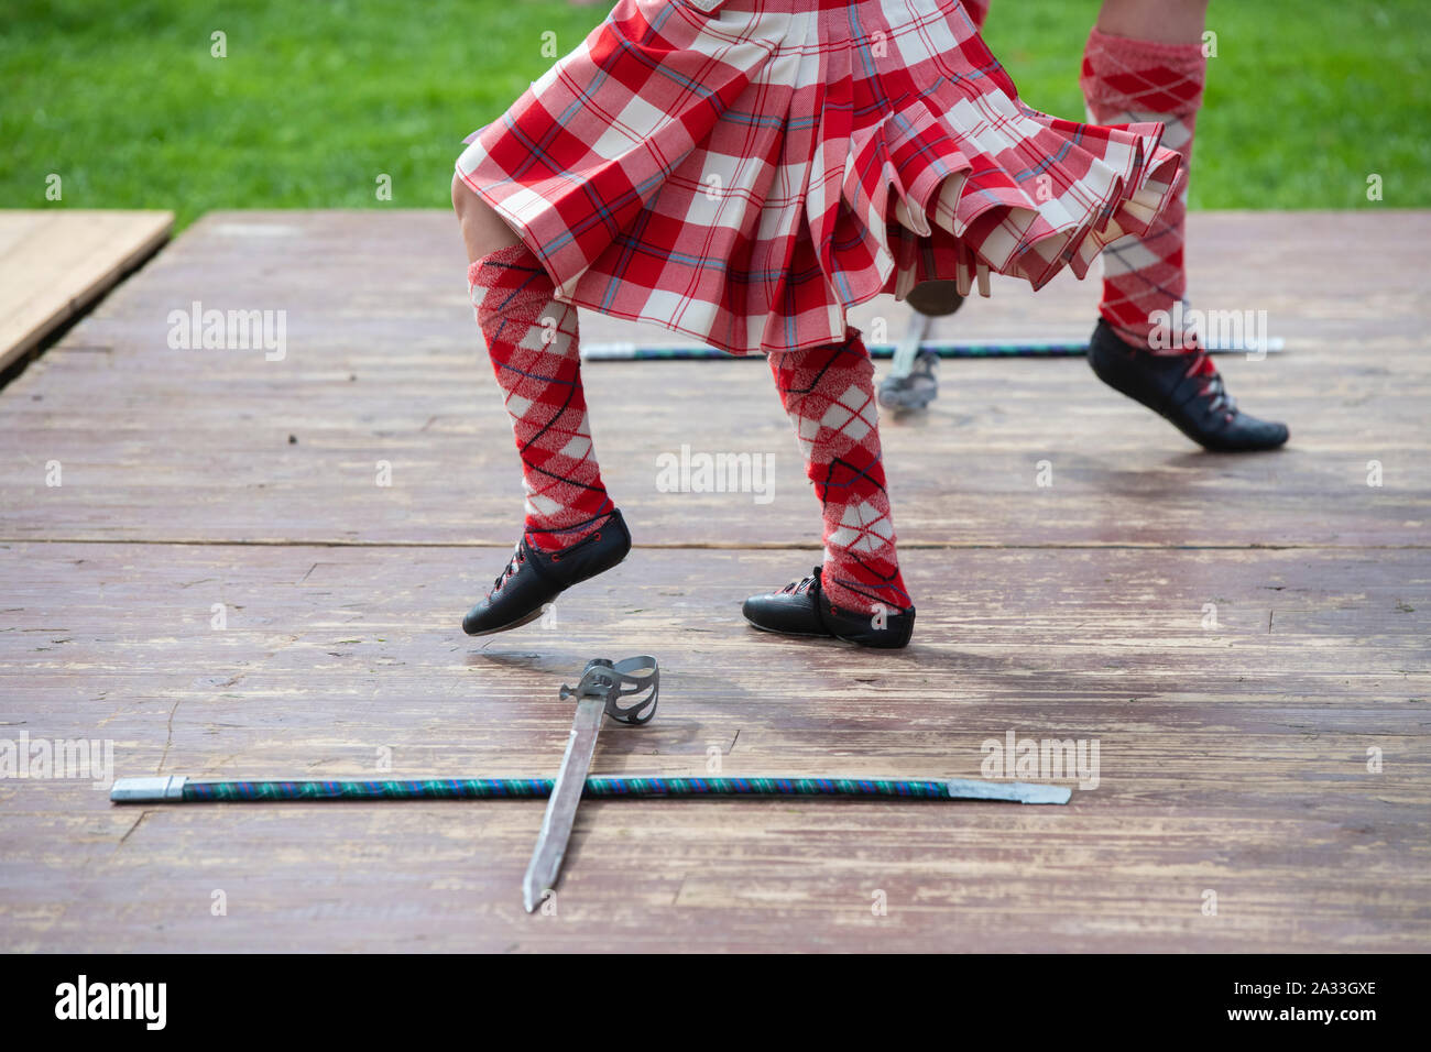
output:
{"label": "entire worn reddish-brown wooden stage floor under the dancers", "polygon": [[[886,425],[919,623],[877,654],[740,618],[819,561],[758,362],[588,365],[638,547],[554,625],[468,640],[519,477],[451,216],[209,215],[0,392],[0,739],[112,741],[114,776],[545,774],[558,686],[651,653],[661,713],[608,727],[594,773],[979,777],[1013,731],[1096,741],[1098,786],[588,802],[557,915],[527,916],[539,802],[137,809],[7,779],[0,946],[1425,952],[1428,239],[1431,213],[1192,218],[1196,303],[1286,341],[1219,359],[1291,424],[1276,454],[1202,454],[1078,359],[946,362]],[[937,335],[1085,336],[1096,298],[997,282]],[[282,358],[175,349],[195,301],[285,311]],[[663,492],[681,444],[773,454],[771,500]]]}

